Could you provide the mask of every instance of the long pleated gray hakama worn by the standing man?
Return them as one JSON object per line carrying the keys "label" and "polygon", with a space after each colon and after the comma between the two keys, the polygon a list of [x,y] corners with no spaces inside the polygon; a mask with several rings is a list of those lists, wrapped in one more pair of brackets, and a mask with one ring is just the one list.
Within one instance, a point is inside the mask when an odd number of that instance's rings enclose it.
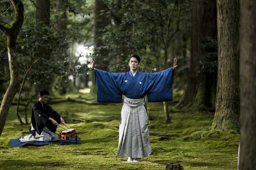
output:
{"label": "long pleated gray hakama worn by the standing man", "polygon": [[143,158],[151,153],[148,133],[148,115],[144,98],[125,97],[119,125],[117,155]]}

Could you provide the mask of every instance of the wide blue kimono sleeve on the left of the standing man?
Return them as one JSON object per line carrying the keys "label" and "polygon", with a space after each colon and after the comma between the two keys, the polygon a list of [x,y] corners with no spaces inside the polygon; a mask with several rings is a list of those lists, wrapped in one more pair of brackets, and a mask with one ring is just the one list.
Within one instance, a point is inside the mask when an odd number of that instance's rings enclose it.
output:
{"label": "wide blue kimono sleeve on the left of the standing man", "polygon": [[97,85],[97,102],[101,103],[121,103],[122,93],[118,87],[120,74],[109,73],[99,69],[95,70],[95,80]]}

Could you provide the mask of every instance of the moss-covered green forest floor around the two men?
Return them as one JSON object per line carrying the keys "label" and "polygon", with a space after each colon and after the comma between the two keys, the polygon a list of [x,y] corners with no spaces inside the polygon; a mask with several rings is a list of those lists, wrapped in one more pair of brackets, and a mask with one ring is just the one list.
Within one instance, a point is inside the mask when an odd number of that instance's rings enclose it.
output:
{"label": "moss-covered green forest floor around the two men", "polygon": [[[67,97],[77,100],[61,101]],[[79,131],[81,144],[66,146],[9,147],[10,139],[29,134],[30,127],[19,125],[12,105],[0,136],[0,170],[164,170],[171,162],[185,170],[237,170],[239,136],[210,131],[212,112],[171,111],[172,123],[164,124],[163,103],[148,103],[152,153],[140,162],[128,163],[126,157],[116,156],[122,104],[95,105],[92,100],[88,94],[51,100],[52,108]],[[169,108],[176,103],[169,102]],[[163,135],[169,139],[161,140]]]}

